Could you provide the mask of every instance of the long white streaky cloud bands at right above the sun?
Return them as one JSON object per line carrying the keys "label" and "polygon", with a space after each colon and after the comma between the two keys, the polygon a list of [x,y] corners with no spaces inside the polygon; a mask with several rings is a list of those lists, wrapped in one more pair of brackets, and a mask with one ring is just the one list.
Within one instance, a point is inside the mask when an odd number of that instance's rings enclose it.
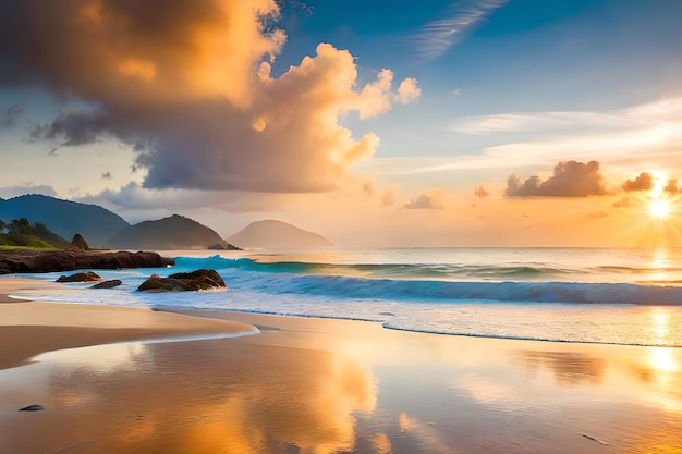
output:
{"label": "long white streaky cloud bands at right above the sun", "polygon": [[[606,113],[534,112],[461,119],[453,128],[484,134],[522,131],[520,140],[478,154],[373,158],[355,167],[375,175],[416,175],[477,169],[547,168],[598,160],[605,171],[682,168],[682,97]],[[552,134],[546,134],[551,132]],[[454,150],[453,150],[454,151]]]}

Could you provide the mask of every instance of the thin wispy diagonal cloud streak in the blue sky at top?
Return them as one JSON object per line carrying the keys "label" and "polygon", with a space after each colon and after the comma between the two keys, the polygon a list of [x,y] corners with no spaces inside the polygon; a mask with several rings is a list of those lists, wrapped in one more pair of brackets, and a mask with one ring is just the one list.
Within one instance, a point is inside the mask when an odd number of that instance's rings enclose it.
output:
{"label": "thin wispy diagonal cloud streak in the blue sky at top", "polygon": [[433,60],[461,42],[466,33],[484,22],[509,0],[458,0],[446,11],[443,19],[422,27],[414,38],[424,59]]}

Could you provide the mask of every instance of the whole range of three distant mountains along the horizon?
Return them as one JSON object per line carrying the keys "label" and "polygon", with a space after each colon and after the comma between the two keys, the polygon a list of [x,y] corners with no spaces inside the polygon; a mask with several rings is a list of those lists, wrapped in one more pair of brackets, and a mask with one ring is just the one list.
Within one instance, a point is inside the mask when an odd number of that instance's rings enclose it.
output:
{"label": "whole range of three distant mountains along the horizon", "polygon": [[36,194],[7,200],[0,198],[0,221],[9,225],[21,219],[44,224],[66,242],[80,234],[92,248],[168,250],[332,246],[317,233],[275,220],[253,222],[223,240],[212,229],[179,214],[131,225],[98,205]]}

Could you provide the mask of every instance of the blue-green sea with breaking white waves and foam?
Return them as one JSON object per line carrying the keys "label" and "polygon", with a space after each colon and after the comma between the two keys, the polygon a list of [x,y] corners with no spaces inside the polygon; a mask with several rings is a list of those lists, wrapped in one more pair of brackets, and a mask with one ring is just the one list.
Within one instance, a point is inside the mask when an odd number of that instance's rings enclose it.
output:
{"label": "blue-green sea with breaking white waves and foam", "polygon": [[[442,335],[682,346],[682,248],[173,250],[167,269],[95,270],[38,300],[367,320]],[[150,274],[215,269],[227,290],[145,293]],[[63,273],[27,274],[54,281]]]}

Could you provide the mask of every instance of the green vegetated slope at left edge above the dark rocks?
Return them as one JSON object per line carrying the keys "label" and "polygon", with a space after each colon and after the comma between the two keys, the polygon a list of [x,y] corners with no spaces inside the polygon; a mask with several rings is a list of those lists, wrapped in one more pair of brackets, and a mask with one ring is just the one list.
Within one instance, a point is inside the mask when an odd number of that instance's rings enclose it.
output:
{"label": "green vegetated slope at left edge above the dark rocks", "polygon": [[9,223],[0,220],[0,248],[66,249],[71,244],[51,232],[45,224],[33,225],[25,218]]}

